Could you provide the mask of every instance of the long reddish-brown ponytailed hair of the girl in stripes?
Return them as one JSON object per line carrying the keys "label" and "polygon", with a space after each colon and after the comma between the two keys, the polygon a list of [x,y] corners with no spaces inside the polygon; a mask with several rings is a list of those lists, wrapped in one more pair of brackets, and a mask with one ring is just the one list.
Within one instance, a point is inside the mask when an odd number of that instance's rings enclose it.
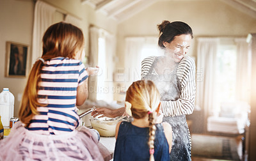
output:
{"label": "long reddish-brown ponytailed hair of the girl in stripes", "polygon": [[[43,37],[42,59],[45,61],[54,57],[68,57],[74,59],[76,51],[82,50],[84,45],[84,36],[81,29],[72,24],[59,22],[50,26]],[[38,60],[33,65],[28,77],[26,88],[24,89],[22,102],[19,109],[19,119],[26,126],[30,120],[38,114],[36,107],[45,106],[38,103],[37,91],[38,82],[41,81],[40,73],[44,63]]]}

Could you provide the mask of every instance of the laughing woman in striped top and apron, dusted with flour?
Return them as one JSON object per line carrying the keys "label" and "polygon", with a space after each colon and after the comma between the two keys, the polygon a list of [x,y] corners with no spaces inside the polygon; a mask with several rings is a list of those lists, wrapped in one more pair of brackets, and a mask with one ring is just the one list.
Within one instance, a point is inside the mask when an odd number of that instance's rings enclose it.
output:
{"label": "laughing woman in striped top and apron, dusted with flour", "polygon": [[164,20],[159,24],[158,45],[164,56],[142,61],[141,78],[153,81],[161,95],[163,121],[172,125],[173,142],[170,160],[191,160],[191,138],[186,114],[195,105],[195,62],[185,56],[193,32],[184,22]]}

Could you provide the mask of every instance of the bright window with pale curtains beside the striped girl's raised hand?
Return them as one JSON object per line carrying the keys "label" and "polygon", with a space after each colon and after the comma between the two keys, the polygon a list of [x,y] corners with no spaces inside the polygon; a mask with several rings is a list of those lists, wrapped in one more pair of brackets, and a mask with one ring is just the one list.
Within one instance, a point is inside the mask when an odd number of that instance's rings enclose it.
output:
{"label": "bright window with pale curtains beside the striped girl's raised hand", "polygon": [[115,56],[116,39],[104,29],[90,27],[90,66],[99,66],[97,77],[89,79],[90,100],[113,101],[113,56]]}

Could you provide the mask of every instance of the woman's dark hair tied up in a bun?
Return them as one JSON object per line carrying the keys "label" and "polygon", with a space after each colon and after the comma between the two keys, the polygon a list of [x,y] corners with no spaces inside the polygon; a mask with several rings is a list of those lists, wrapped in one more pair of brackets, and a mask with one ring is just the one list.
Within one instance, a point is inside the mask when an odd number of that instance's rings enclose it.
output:
{"label": "woman's dark hair tied up in a bun", "polygon": [[157,28],[159,30],[158,46],[162,48],[164,47],[163,42],[170,43],[174,40],[175,36],[180,34],[190,34],[191,38],[193,38],[192,29],[185,22],[164,20],[162,24],[157,25]]}

